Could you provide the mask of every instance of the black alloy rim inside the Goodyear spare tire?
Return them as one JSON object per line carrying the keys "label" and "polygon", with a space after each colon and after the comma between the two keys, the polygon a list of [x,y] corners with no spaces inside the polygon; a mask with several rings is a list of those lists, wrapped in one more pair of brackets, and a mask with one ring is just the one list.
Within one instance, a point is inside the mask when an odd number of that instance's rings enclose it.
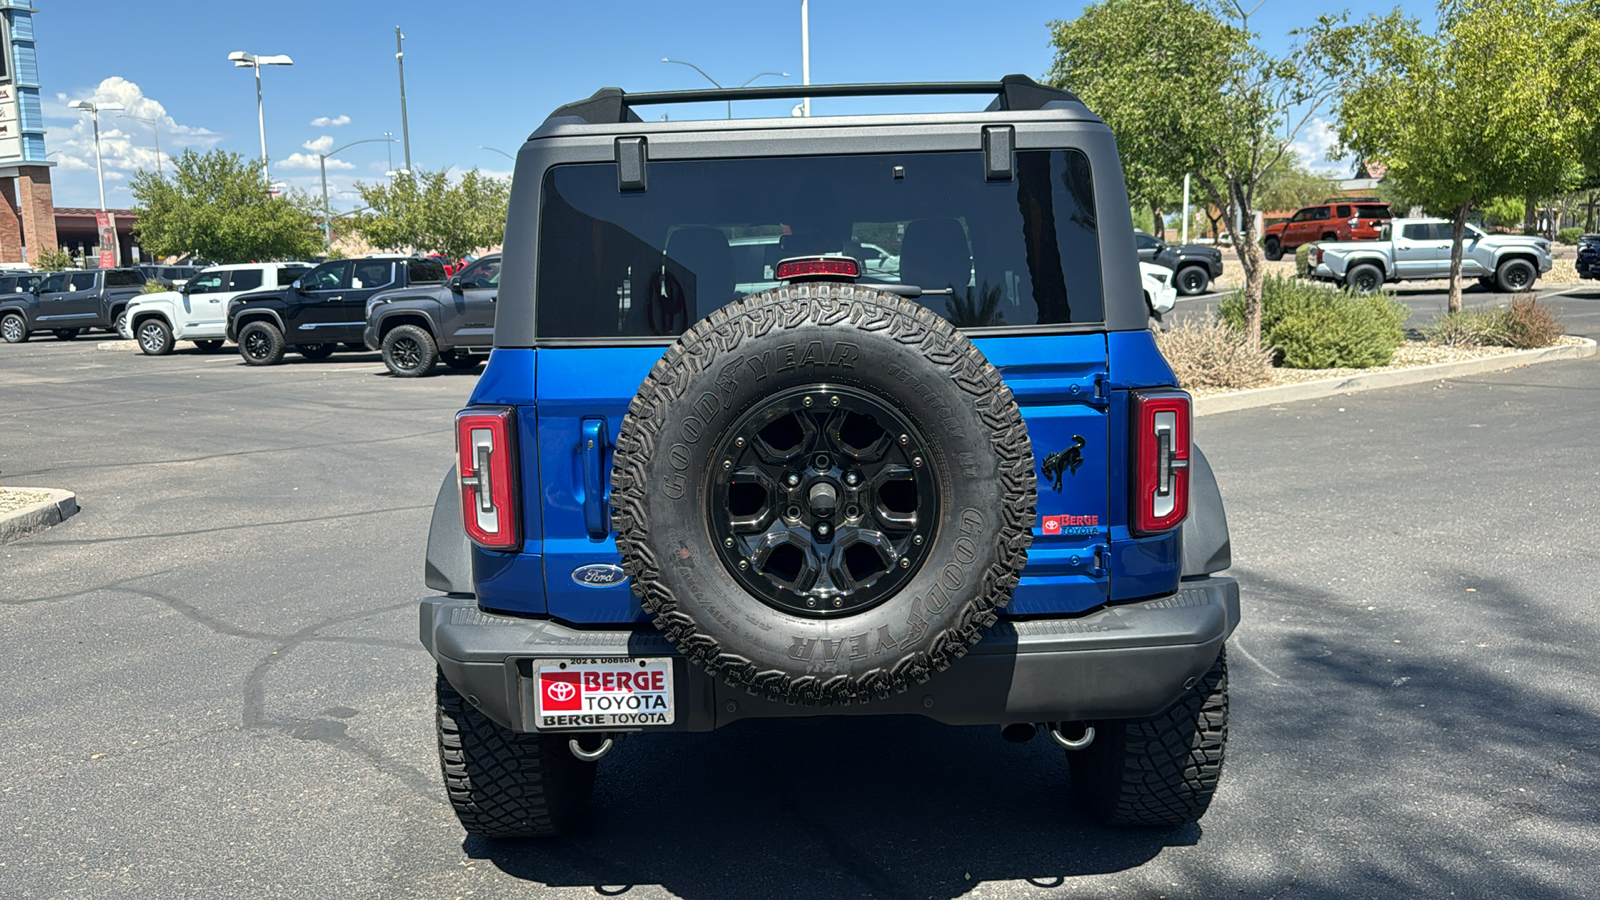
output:
{"label": "black alloy rim inside the Goodyear spare tire", "polygon": [[939,479],[922,432],[885,399],[811,384],[757,404],[715,448],[707,516],[723,565],[795,615],[853,615],[926,560]]}

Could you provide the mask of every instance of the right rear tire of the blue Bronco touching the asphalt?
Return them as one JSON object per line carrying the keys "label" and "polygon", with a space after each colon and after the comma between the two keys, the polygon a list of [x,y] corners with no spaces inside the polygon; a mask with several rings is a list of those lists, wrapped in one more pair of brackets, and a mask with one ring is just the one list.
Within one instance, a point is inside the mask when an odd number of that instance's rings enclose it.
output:
{"label": "right rear tire of the blue Bronco touching the asphalt", "polygon": [[1094,743],[1067,753],[1072,790],[1106,825],[1200,822],[1222,778],[1227,652],[1182,698],[1149,719],[1093,722]]}

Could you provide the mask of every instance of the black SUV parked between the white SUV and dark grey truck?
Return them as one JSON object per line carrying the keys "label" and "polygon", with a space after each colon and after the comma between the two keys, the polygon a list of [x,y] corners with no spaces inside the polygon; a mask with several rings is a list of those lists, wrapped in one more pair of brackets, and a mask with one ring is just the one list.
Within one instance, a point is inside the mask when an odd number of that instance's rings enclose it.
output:
{"label": "black SUV parked between the white SUV and dark grey truck", "polygon": [[366,301],[382,290],[443,283],[445,266],[421,256],[330,259],[286,288],[235,296],[227,304],[227,340],[250,365],[277,365],[293,348],[328,359],[341,344],[365,351]]}

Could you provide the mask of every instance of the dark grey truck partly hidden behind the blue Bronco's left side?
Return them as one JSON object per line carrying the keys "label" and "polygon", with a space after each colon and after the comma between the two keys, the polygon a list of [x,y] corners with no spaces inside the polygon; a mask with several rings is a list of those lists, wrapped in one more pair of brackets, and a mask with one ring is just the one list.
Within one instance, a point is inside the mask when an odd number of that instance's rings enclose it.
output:
{"label": "dark grey truck partly hidden behind the blue Bronco's left side", "polygon": [[442,285],[382,291],[366,301],[368,349],[400,378],[434,372],[438,362],[470,372],[494,344],[499,253],[470,263]]}

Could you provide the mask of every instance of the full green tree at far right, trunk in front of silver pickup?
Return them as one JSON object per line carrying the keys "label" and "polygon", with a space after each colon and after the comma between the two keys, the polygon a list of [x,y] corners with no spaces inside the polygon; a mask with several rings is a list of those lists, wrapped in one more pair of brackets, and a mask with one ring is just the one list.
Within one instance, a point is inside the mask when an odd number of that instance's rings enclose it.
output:
{"label": "full green tree at far right, trunk in front of silver pickup", "polygon": [[1339,139],[1454,223],[1451,312],[1467,213],[1558,194],[1594,155],[1584,146],[1597,133],[1584,83],[1594,74],[1581,53],[1600,48],[1597,10],[1594,0],[1445,0],[1437,34],[1395,10],[1368,19],[1349,48],[1358,75],[1339,94]]}

